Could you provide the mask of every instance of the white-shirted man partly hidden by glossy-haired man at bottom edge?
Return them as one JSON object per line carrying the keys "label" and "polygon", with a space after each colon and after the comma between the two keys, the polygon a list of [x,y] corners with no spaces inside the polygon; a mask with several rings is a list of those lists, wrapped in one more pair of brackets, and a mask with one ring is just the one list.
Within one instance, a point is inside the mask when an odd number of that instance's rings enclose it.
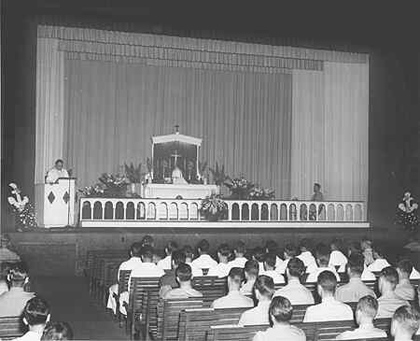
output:
{"label": "white-shirted man partly hidden by glossy-haired man at bottom edge", "polygon": [[241,326],[269,323],[268,309],[274,294],[273,279],[265,275],[258,276],[254,284],[254,292],[258,304],[256,307],[242,313],[238,322]]}

